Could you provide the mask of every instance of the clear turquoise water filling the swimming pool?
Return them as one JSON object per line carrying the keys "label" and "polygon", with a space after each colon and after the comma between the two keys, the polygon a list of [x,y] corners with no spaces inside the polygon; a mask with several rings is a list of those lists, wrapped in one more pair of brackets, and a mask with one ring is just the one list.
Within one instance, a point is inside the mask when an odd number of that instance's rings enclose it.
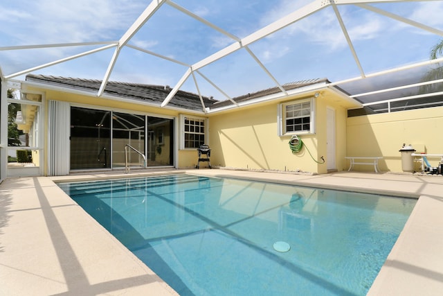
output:
{"label": "clear turquoise water filling the swimming pool", "polygon": [[180,295],[365,295],[416,202],[183,174],[59,186]]}

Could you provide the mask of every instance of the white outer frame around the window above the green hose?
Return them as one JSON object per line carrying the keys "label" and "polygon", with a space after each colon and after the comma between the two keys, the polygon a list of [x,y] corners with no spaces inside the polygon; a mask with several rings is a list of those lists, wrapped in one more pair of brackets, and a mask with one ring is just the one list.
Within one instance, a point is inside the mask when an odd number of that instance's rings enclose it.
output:
{"label": "white outer frame around the window above the green hose", "polygon": [[[309,103],[310,112],[309,112],[309,130],[298,130],[298,131],[287,131],[286,124],[286,108],[291,105],[301,105],[302,103]],[[293,100],[284,103],[278,104],[278,135],[282,136],[290,136],[293,134],[315,134],[316,126],[316,99],[315,98],[305,98],[300,100]]]}

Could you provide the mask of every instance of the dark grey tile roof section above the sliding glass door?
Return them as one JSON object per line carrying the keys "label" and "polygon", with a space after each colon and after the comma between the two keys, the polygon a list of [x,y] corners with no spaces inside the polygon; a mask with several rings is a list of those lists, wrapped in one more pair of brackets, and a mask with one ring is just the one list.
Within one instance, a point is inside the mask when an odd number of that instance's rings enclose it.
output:
{"label": "dark grey tile roof section above the sliding glass door", "polygon": [[[64,87],[66,89],[75,89],[83,92],[98,93],[101,80],[67,78],[60,76],[44,76],[28,74],[26,81],[38,82],[55,87]],[[109,81],[105,87],[104,94],[116,96],[120,98],[128,98],[134,101],[147,101],[150,103],[158,103],[159,105],[170,93],[171,88],[162,85],[143,85],[139,83],[114,82]],[[217,101],[213,98],[202,96],[206,107],[211,107]],[[190,92],[180,91],[175,94],[170,103],[171,107],[178,107],[186,110],[201,111],[199,95]]]}

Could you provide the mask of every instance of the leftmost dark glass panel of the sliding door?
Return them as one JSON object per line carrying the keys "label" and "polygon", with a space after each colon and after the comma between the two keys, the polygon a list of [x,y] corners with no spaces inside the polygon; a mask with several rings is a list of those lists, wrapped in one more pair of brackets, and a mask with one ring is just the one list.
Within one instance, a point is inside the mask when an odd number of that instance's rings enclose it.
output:
{"label": "leftmost dark glass panel of the sliding door", "polygon": [[71,107],[71,170],[111,168],[111,112]]}

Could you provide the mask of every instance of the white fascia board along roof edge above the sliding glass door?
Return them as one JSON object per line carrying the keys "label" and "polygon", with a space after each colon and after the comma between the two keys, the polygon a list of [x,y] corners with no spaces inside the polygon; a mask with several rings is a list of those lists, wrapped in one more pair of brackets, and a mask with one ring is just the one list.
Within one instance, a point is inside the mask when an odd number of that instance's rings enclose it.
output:
{"label": "white fascia board along roof edge above the sliding glass door", "polygon": [[[65,88],[65,87],[58,87],[55,85],[46,85],[44,83],[29,82],[29,81],[21,82],[21,84],[22,84],[21,90],[23,92],[26,92],[26,90],[27,90],[26,87],[30,86],[30,87],[38,87],[39,89],[51,89],[51,90],[59,91],[59,92],[66,92],[69,94],[79,94],[82,96],[91,96],[92,98],[96,98],[96,92],[88,92],[88,91],[84,91],[84,90],[80,90],[80,89],[69,89],[69,88]],[[184,109],[184,108],[179,108],[179,107],[171,107],[171,106],[161,107],[160,103],[150,103],[147,101],[136,101],[136,100],[132,100],[130,98],[121,98],[120,96],[110,96],[108,94],[103,94],[102,96],[100,96],[100,98],[106,98],[106,99],[109,99],[112,101],[120,101],[120,102],[125,102],[125,103],[145,105],[145,106],[150,106],[150,107],[158,107],[160,109],[168,109],[168,110],[186,112],[186,113],[191,113],[191,114],[199,114],[199,115],[205,114],[205,112],[203,112],[203,111],[189,110],[189,109]],[[91,101],[90,105],[94,105],[93,101]]]}

